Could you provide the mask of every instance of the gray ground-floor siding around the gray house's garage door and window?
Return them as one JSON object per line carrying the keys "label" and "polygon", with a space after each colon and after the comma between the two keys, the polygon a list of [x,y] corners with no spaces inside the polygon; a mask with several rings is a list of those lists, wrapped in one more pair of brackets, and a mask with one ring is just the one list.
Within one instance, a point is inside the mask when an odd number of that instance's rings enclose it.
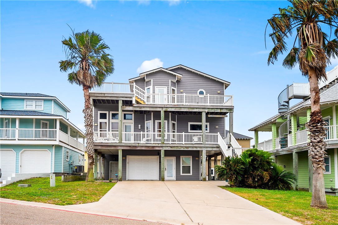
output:
{"label": "gray ground-floor siding around the gray house's garage door and window", "polygon": [[[122,180],[126,180],[127,178],[127,155],[129,156],[158,156],[159,150],[122,150]],[[199,160],[199,151],[198,150],[166,150],[164,153],[165,156],[175,156],[176,157],[176,180],[199,180],[200,177],[200,160]],[[192,175],[180,175],[180,156],[192,156]],[[109,168],[109,161],[117,161],[109,160],[110,157],[105,155],[105,179],[107,178],[106,174],[109,174],[110,171],[106,172],[106,168]],[[115,157],[115,155],[113,156]],[[198,159],[195,159],[195,158]],[[159,156],[159,180],[161,180],[161,157]]]}

